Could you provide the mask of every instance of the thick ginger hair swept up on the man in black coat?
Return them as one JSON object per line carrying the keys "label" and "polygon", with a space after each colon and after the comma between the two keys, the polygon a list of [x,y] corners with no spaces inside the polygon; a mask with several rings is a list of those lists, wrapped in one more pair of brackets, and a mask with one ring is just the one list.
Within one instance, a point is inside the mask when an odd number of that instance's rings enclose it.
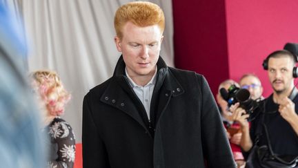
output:
{"label": "thick ginger hair swept up on the man in black coat", "polygon": [[119,39],[122,39],[122,28],[128,21],[140,27],[157,24],[161,32],[165,28],[163,10],[157,4],[145,1],[126,3],[118,8],[114,17],[114,26]]}

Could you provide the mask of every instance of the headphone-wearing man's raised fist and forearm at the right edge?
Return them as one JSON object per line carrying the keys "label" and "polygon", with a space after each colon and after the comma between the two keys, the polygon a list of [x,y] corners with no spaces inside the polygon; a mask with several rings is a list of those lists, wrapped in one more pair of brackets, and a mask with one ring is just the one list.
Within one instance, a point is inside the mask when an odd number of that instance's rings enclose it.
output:
{"label": "headphone-wearing man's raised fist and forearm at the right edge", "polygon": [[291,125],[298,136],[298,115],[295,112],[295,104],[288,97],[284,97],[278,103],[281,117]]}

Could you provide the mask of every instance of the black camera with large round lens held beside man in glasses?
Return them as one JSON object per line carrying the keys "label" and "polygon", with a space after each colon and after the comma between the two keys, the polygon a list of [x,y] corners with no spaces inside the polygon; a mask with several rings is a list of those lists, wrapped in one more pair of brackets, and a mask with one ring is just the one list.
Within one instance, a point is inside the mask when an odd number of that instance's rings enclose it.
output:
{"label": "black camera with large round lens held beside man in glasses", "polygon": [[250,92],[246,88],[238,88],[232,84],[228,91],[225,88],[219,90],[221,97],[228,102],[228,107],[239,102],[239,106],[245,109],[247,113],[252,113],[259,106],[259,101],[250,98]]}

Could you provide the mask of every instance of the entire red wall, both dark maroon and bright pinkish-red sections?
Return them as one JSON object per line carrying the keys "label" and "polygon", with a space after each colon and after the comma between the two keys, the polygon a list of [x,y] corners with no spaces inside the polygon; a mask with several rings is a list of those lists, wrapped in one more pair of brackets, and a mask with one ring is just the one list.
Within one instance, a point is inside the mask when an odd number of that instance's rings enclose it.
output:
{"label": "entire red wall, both dark maroon and bright pinkish-red sections", "polygon": [[272,89],[262,62],[298,43],[297,0],[172,0],[175,66],[206,76],[213,93],[227,78],[255,73]]}

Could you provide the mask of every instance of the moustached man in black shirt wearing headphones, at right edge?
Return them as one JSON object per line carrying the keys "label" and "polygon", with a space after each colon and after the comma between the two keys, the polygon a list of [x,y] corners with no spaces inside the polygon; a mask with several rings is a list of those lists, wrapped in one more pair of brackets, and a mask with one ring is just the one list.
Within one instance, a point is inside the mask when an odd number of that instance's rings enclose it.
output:
{"label": "moustached man in black shirt wearing headphones, at right edge", "polygon": [[[233,118],[241,125],[241,148],[246,156],[250,153],[247,167],[272,167],[270,164],[284,166],[284,163],[277,161],[276,156],[280,158],[287,156],[288,160],[285,162],[292,167],[297,167],[295,161],[291,160],[298,156],[298,96],[297,88],[294,86],[294,77],[297,77],[295,62],[297,62],[296,57],[288,50],[277,50],[268,55],[263,66],[268,70],[273,93],[261,101],[259,108],[252,114],[240,108],[239,103],[230,107]],[[251,120],[250,128],[248,118]],[[255,144],[263,149],[268,148],[262,151],[265,153],[263,158],[260,157],[261,148]],[[256,153],[259,155],[252,157],[255,151],[258,151]],[[266,156],[270,156],[271,163],[267,162]]]}

